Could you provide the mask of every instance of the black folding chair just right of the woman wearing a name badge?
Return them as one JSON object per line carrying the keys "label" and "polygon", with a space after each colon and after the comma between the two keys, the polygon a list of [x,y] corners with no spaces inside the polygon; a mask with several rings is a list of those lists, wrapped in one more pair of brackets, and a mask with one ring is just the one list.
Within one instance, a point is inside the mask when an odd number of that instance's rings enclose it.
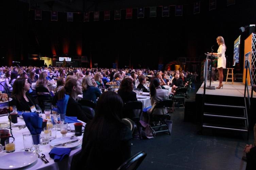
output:
{"label": "black folding chair just right of the woman wearing a name badge", "polygon": [[[45,92],[47,94],[38,94]],[[50,91],[46,87],[36,87],[37,101],[42,110],[52,109],[52,97]]]}

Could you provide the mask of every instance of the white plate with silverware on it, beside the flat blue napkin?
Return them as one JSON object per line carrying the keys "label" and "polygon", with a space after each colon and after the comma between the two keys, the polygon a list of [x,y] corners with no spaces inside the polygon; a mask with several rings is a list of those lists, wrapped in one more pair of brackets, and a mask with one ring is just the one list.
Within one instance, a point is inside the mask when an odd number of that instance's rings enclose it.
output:
{"label": "white plate with silverware on it, beside the flat blue napkin", "polygon": [[70,142],[70,141],[75,141],[75,140],[78,140],[78,142],[74,142],[74,143],[68,144],[66,146],[57,146],[55,148],[74,148],[74,147],[77,147],[82,144],[82,139],[80,140],[77,137],[74,137],[73,139],[70,139],[70,137],[60,137],[60,138],[52,140],[50,142],[50,145],[52,147],[54,147],[55,145],[63,144],[65,142]]}

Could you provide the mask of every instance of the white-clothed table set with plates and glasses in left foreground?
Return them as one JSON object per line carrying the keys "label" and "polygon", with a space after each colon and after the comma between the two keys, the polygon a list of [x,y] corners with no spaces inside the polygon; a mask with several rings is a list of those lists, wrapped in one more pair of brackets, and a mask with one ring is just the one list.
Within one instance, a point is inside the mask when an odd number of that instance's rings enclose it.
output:
{"label": "white-clothed table set with plates and glasses in left foreground", "polygon": [[73,156],[81,151],[86,124],[65,115],[64,121],[61,114],[51,114],[50,109],[45,113],[13,112],[13,137],[8,115],[0,114],[0,169],[70,169]]}

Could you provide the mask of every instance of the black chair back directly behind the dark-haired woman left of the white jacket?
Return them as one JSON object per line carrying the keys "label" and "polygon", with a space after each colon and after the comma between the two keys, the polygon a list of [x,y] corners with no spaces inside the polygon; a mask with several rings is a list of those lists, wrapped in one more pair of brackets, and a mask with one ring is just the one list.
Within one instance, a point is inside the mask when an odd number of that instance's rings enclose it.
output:
{"label": "black chair back directly behind the dark-haired woman left of the white jacket", "polygon": [[138,122],[142,113],[142,102],[141,101],[130,101],[124,103],[123,113],[125,117]]}

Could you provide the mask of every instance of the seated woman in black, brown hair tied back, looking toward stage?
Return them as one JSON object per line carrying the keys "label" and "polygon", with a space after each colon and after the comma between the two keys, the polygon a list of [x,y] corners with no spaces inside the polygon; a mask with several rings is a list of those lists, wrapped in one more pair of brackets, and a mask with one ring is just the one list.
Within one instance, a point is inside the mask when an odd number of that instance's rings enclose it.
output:
{"label": "seated woman in black, brown hair tied back, looking toward stage", "polygon": [[82,94],[82,87],[79,81],[76,79],[69,79],[66,81],[64,88],[59,91],[58,98],[63,99],[65,96],[64,94],[69,95],[66,116],[74,116],[85,123],[89,122],[89,120],[92,119],[92,116],[85,113],[82,110],[81,104],[76,102],[78,94]]}

